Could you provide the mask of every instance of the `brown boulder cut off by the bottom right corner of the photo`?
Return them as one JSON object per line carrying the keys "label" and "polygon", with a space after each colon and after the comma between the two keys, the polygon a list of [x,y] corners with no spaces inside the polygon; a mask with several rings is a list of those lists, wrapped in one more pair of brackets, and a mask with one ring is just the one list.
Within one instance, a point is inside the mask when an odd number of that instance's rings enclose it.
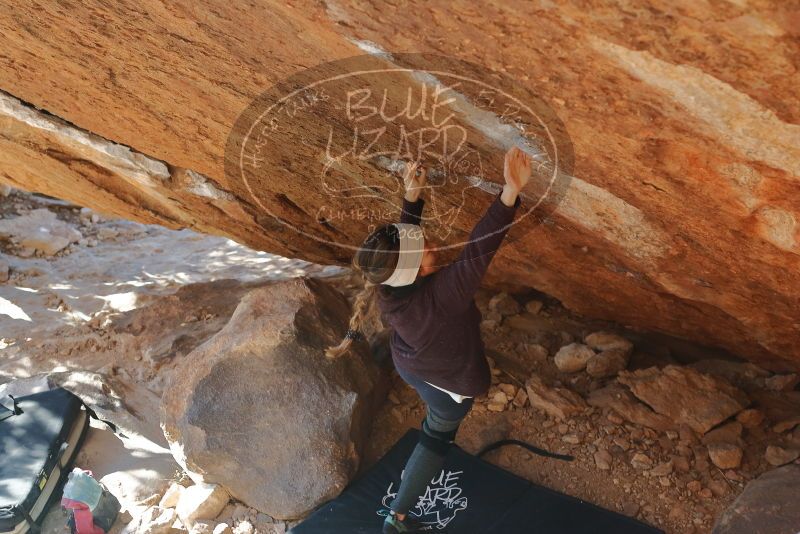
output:
{"label": "brown boulder cut off by the bottom right corner of the photo", "polygon": [[800,466],[773,469],[752,480],[717,520],[713,534],[796,534],[800,525]]}

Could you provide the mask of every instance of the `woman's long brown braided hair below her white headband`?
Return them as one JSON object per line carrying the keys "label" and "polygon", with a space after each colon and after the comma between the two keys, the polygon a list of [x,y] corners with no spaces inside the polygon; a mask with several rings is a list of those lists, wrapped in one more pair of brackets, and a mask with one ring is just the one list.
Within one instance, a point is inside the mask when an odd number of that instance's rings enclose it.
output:
{"label": "woman's long brown braided hair below her white headband", "polygon": [[353,256],[353,268],[364,277],[364,289],[356,295],[353,302],[348,333],[338,345],[328,347],[325,351],[328,358],[338,358],[350,348],[353,339],[357,337],[354,333],[359,331],[376,286],[392,275],[399,256],[400,234],[393,224],[385,224],[376,229],[358,248]]}

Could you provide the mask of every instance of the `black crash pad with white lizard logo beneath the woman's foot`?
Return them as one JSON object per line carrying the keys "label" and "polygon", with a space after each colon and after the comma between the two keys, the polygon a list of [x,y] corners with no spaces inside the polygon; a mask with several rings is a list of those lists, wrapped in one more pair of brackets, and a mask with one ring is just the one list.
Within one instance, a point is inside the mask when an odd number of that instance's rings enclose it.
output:
{"label": "black crash pad with white lizard logo beneath the woman's foot", "polygon": [[[417,443],[410,430],[291,534],[378,534]],[[661,530],[533,484],[453,447],[412,514],[448,534],[658,534]]]}

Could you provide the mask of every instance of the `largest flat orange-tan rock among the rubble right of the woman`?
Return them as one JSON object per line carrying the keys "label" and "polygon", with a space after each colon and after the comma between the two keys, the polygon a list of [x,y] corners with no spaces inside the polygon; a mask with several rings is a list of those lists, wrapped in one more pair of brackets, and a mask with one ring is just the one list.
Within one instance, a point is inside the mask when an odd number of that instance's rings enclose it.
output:
{"label": "largest flat orange-tan rock among the rubble right of the woman", "polygon": [[727,380],[689,367],[669,365],[664,369],[623,371],[619,381],[657,413],[675,423],[685,423],[700,434],[750,404],[744,392]]}

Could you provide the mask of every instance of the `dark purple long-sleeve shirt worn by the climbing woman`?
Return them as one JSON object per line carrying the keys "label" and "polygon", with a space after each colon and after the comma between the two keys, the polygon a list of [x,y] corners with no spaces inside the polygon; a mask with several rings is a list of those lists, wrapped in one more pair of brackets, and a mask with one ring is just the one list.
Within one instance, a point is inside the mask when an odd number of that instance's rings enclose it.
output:
{"label": "dark purple long-sleeve shirt worn by the climbing woman", "polygon": [[[508,207],[498,195],[475,225],[458,259],[419,276],[412,286],[381,286],[378,307],[392,327],[392,360],[408,374],[459,395],[475,397],[491,385],[474,295],[500,248],[520,200]],[[403,200],[400,222],[420,224],[422,199]]]}

